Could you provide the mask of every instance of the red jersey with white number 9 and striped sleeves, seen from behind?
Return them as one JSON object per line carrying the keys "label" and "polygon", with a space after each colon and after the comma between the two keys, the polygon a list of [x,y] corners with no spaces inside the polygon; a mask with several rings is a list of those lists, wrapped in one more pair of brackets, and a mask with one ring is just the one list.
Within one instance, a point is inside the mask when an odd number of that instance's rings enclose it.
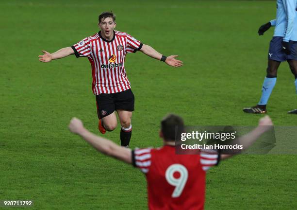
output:
{"label": "red jersey with white number 9 and striped sleeves, seen from behind", "polygon": [[203,210],[206,171],[217,165],[219,154],[176,155],[175,147],[135,149],[132,162],[148,182],[150,210]]}

